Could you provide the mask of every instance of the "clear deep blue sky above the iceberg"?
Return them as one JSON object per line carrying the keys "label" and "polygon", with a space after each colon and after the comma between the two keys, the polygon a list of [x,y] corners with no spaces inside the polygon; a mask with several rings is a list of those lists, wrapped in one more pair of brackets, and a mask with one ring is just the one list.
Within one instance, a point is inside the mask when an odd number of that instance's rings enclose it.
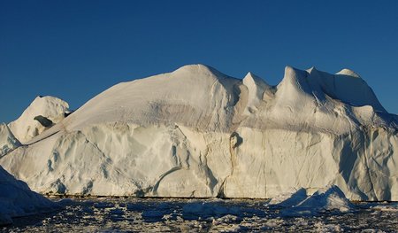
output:
{"label": "clear deep blue sky above the iceberg", "polygon": [[348,67],[398,113],[398,1],[0,0],[0,121],[194,63],[271,84],[287,65]]}

